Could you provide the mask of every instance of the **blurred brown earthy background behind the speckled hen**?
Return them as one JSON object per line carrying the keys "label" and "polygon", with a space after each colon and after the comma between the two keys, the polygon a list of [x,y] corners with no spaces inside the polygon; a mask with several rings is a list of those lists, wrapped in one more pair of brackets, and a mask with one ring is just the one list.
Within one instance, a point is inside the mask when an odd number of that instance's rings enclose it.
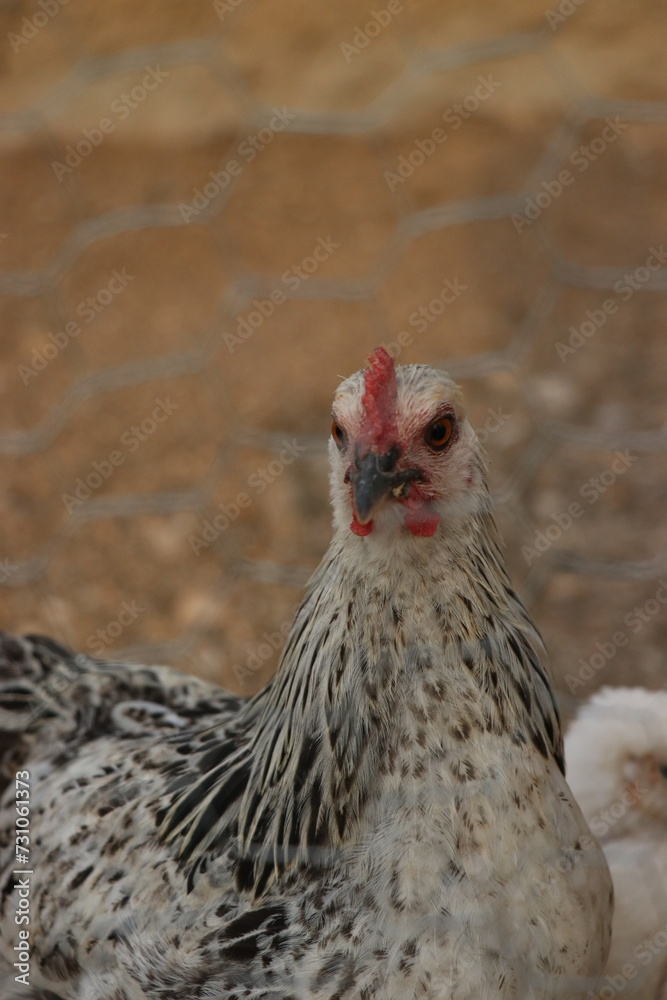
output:
{"label": "blurred brown earthy background behind the speckled hen", "polygon": [[662,686],[662,0],[5,0],[0,625],[260,687],[338,380],[464,386],[565,698]]}

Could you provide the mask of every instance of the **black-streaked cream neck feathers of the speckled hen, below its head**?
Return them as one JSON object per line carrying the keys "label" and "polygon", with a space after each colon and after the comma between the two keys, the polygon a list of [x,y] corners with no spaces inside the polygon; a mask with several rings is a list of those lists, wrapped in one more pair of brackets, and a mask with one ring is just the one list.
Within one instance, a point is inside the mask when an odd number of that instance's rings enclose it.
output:
{"label": "black-streaked cream neck feathers of the speckled hen, below its head", "polygon": [[236,837],[242,888],[345,843],[406,740],[442,753],[448,734],[502,734],[562,769],[541,641],[492,515],[469,519],[455,542],[410,536],[400,559],[366,542],[336,533],[276,675],[236,724],[247,735],[221,735],[219,778],[205,773],[165,821],[186,858]]}

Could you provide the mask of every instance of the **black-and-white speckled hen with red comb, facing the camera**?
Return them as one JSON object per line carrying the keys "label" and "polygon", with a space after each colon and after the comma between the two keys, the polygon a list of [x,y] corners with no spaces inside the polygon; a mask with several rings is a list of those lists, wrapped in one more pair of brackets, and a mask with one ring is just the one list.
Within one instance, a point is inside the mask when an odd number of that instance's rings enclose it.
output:
{"label": "black-and-white speckled hen with red comb, facing the camera", "polygon": [[3,998],[595,987],[609,873],[460,390],[378,348],[330,461],[333,540],[256,696],[3,640]]}

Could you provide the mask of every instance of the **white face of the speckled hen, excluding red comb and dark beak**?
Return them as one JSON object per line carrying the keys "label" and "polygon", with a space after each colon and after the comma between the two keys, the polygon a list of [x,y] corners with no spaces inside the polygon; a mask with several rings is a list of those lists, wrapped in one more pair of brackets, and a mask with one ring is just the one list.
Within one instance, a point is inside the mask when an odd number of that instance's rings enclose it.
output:
{"label": "white face of the speckled hen, excluding red comb and dark beak", "polygon": [[[329,446],[334,523],[350,531],[356,522],[362,528],[352,529],[356,534],[382,535],[385,540],[387,535],[411,534],[427,543],[434,533],[451,530],[456,521],[486,507],[484,459],[461,392],[444,372],[424,365],[400,366],[396,383],[393,419],[379,445],[369,442],[365,430],[363,372],[346,379],[335,395],[332,416],[339,440],[332,436]],[[445,444],[437,446],[448,435]],[[366,511],[355,509],[349,477],[358,476],[359,460],[369,452],[386,454],[390,447],[398,453],[391,475],[400,480],[402,473],[411,471],[407,481],[388,489],[373,505],[368,518]]]}

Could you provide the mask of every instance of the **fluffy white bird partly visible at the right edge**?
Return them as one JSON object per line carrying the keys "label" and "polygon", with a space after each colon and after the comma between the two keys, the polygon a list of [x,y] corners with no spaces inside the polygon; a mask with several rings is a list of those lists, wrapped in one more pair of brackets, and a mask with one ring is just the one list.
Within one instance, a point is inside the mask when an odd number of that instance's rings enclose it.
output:
{"label": "fluffy white bird partly visible at the right edge", "polygon": [[605,986],[667,1000],[667,693],[601,688],[570,726],[565,750],[615,889]]}

